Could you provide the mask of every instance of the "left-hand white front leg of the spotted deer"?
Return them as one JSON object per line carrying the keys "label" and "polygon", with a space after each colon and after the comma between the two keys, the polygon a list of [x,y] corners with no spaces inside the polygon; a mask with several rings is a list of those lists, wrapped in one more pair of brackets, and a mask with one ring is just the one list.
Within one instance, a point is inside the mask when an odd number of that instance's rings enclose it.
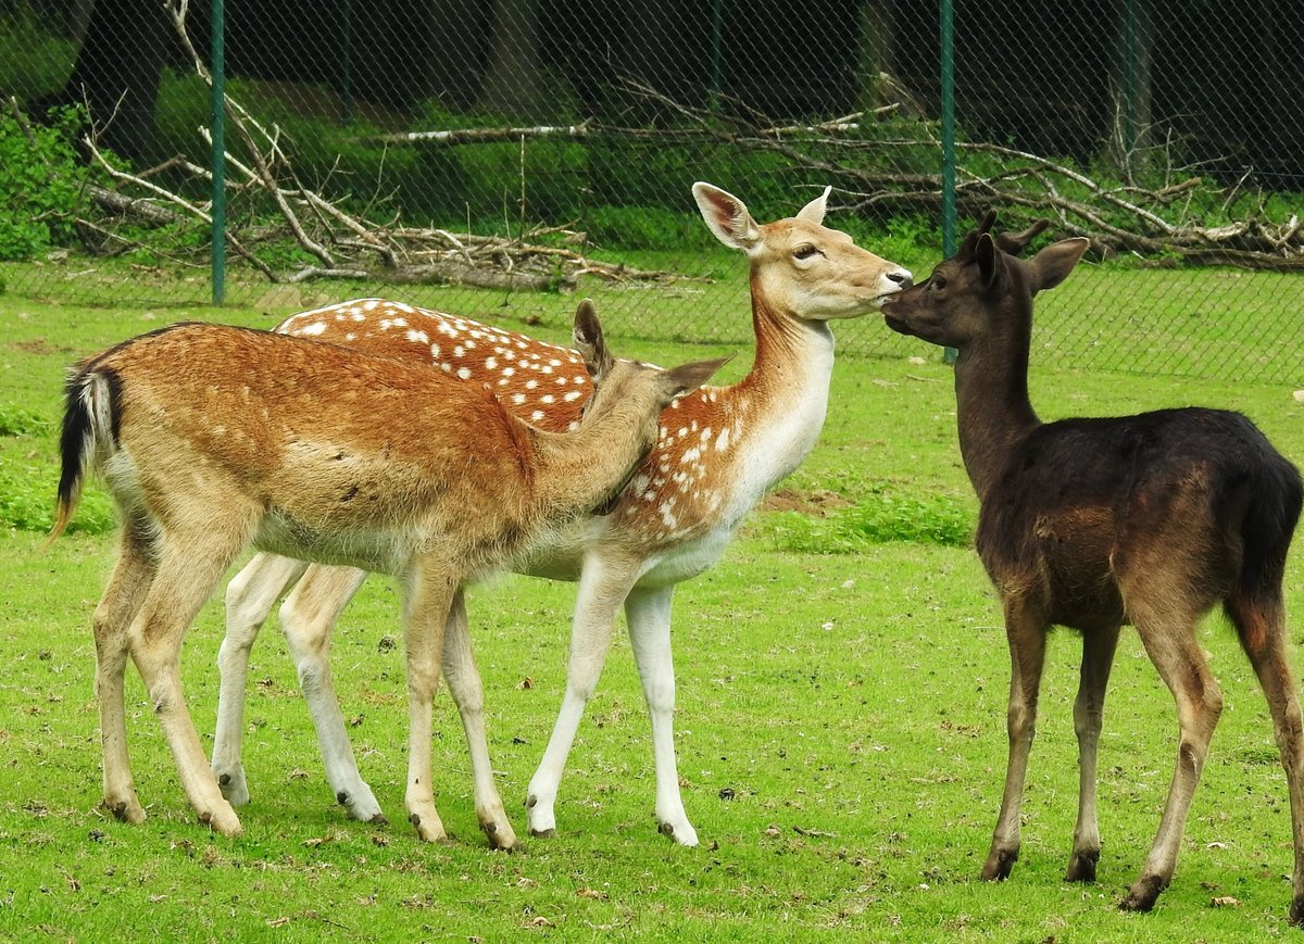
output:
{"label": "left-hand white front leg of the spotted deer", "polygon": [[554,804],[562,773],[566,771],[566,758],[575,742],[584,707],[593,696],[597,679],[602,674],[617,609],[625,601],[632,583],[631,567],[604,559],[599,553],[591,553],[584,558],[571,623],[566,695],[544,758],[539,761],[539,769],[531,777],[526,794],[531,836],[557,834]]}

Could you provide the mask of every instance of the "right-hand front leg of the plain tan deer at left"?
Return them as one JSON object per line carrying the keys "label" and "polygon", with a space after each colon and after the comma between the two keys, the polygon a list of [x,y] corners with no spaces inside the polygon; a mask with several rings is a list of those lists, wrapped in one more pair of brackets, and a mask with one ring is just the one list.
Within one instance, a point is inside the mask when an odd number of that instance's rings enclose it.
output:
{"label": "right-hand front leg of the plain tan deer at left", "polygon": [[443,679],[449,683],[449,694],[458,705],[462,728],[467,734],[471,774],[475,777],[476,819],[492,848],[511,849],[516,845],[516,833],[507,820],[498,786],[493,782],[489,742],[485,738],[485,690],[471,648],[466,593],[460,587],[452,597],[449,622],[443,628]]}

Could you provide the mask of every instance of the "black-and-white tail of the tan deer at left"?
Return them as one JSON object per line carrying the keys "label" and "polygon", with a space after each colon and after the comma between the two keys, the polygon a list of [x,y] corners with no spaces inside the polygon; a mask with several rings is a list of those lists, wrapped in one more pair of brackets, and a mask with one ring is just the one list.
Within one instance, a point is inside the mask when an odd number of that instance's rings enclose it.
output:
{"label": "black-and-white tail of the tan deer at left", "polygon": [[63,471],[59,475],[55,527],[47,544],[72,520],[91,460],[117,441],[117,376],[74,369],[64,386],[64,432],[59,438]]}

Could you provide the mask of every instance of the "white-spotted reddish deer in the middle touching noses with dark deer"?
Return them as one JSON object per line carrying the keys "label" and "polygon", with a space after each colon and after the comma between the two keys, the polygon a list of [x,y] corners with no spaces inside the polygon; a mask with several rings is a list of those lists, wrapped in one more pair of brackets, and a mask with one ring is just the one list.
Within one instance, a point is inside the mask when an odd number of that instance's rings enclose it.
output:
{"label": "white-spotted reddish deer in the middle touching noses with dark deer", "polygon": [[[561,713],[529,782],[529,832],[556,833],[554,803],[585,703],[597,686],[621,606],[652,722],[656,816],[660,831],[686,846],[698,836],[679,793],[673,737],[674,668],[670,597],[674,587],[715,563],[747,511],[810,452],[824,422],[833,369],[828,322],[876,310],[910,284],[910,273],[823,226],[829,190],[795,216],[759,226],[737,197],[709,184],[692,188],[711,231],[751,262],[756,352],[751,372],[728,387],[704,387],[661,416],[656,449],[605,518],[576,523],[519,567],[520,572],[578,580],[570,666]],[[572,352],[468,318],[408,305],[360,300],[305,312],[280,331],[381,351],[433,364],[484,383],[509,408],[550,429],[579,416],[588,381]],[[303,565],[261,554],[227,591],[222,695],[214,771],[233,802],[249,798],[240,761],[241,711],[249,651],[262,621]],[[312,567],[287,597],[280,622],[299,665],[317,725],[327,778],[355,818],[381,815],[357,772],[330,688],[329,632],[364,579],[360,571]],[[460,600],[459,600],[460,602]],[[460,610],[458,621],[464,619]],[[446,666],[463,665],[456,621],[450,622]],[[482,737],[479,679],[450,678],[467,731]],[[459,700],[459,695],[463,698]],[[486,756],[486,748],[472,758]],[[488,768],[476,781],[489,778]]]}

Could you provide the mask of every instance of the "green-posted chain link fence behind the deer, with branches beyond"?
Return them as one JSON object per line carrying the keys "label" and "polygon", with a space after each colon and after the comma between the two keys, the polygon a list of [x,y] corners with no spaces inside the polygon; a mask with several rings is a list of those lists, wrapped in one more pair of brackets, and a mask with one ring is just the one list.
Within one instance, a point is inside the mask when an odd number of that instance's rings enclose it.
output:
{"label": "green-posted chain link fence behind the deer, with branches beyond", "polygon": [[[1091,236],[1035,360],[1299,382],[1301,51],[1296,0],[0,0],[0,279],[549,325],[576,289],[614,330],[745,344],[692,181],[762,222],[832,184],[828,223],[921,278],[952,213]],[[838,338],[919,352],[872,317]]]}

